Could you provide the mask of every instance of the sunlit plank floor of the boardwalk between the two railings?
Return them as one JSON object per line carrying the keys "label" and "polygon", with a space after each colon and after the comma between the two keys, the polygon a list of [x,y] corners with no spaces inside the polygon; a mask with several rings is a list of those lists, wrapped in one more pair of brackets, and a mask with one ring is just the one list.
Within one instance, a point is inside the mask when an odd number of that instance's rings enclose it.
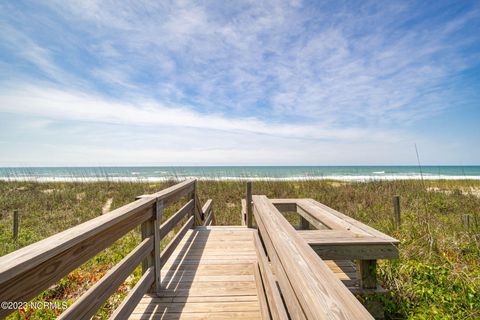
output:
{"label": "sunlit plank floor of the boardwalk between the two railings", "polygon": [[130,319],[261,319],[253,230],[197,227],[162,268],[162,290]]}

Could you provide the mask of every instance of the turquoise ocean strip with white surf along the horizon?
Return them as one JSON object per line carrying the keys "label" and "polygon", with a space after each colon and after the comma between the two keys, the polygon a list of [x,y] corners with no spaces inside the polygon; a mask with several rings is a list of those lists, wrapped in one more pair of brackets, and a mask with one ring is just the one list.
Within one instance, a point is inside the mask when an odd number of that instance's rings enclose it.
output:
{"label": "turquoise ocean strip with white surf along the horizon", "polygon": [[198,166],[198,167],[5,167],[6,181],[165,181],[475,179],[480,166]]}

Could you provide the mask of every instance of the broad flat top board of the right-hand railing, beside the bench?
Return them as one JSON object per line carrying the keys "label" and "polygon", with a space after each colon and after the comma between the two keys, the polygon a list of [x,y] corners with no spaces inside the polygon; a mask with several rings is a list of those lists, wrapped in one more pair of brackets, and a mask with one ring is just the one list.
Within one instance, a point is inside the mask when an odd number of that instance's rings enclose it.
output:
{"label": "broad flat top board of the right-hand railing, beside the bench", "polygon": [[307,318],[372,319],[268,198],[253,201]]}

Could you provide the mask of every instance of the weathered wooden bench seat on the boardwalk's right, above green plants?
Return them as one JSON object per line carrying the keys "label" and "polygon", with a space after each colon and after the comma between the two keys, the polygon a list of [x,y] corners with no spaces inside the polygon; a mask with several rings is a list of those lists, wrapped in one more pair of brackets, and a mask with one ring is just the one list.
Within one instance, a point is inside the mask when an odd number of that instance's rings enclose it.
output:
{"label": "weathered wooden bench seat on the boardwalk's right, above green plants", "polygon": [[359,283],[351,287],[353,291],[383,291],[376,281],[377,260],[398,259],[397,239],[313,199],[271,199],[271,202],[280,211],[293,211],[301,216],[301,225],[307,230],[297,232],[322,259],[356,262]]}

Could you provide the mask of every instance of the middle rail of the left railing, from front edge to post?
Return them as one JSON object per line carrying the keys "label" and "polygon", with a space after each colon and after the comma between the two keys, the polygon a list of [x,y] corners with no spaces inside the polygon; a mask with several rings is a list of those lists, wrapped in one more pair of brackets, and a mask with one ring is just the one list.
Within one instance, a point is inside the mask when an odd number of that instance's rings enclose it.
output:
{"label": "middle rail of the left railing, from front edge to post", "polygon": [[115,267],[110,269],[100,281],[62,312],[59,319],[90,319],[152,249],[153,238],[144,239]]}

